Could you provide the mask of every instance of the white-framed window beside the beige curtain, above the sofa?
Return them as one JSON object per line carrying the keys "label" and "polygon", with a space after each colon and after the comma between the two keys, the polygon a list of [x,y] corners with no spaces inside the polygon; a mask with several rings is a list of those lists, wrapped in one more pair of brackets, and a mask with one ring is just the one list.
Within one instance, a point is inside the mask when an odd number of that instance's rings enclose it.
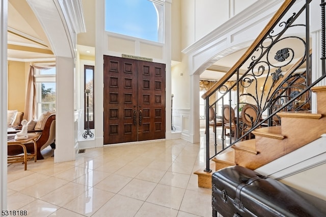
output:
{"label": "white-framed window beside the beige curtain, above the sofa", "polygon": [[36,69],[36,117],[56,109],[56,68]]}

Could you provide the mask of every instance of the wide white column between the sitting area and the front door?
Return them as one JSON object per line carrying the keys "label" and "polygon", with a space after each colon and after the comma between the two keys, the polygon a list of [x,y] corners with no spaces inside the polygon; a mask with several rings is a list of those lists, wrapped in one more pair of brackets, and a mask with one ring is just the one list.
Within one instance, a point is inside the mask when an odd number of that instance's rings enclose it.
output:
{"label": "wide white column between the sitting area and the front door", "polygon": [[75,159],[73,58],[57,57],[55,162]]}

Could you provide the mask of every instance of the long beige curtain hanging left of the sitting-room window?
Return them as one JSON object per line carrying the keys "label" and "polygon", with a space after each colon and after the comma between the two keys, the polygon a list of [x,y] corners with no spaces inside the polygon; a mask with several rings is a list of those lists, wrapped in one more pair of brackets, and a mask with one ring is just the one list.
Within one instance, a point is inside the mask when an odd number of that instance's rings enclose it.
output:
{"label": "long beige curtain hanging left of the sitting-room window", "polygon": [[36,118],[36,84],[34,78],[35,69],[30,66],[30,71],[26,84],[25,108],[23,119],[28,121]]}

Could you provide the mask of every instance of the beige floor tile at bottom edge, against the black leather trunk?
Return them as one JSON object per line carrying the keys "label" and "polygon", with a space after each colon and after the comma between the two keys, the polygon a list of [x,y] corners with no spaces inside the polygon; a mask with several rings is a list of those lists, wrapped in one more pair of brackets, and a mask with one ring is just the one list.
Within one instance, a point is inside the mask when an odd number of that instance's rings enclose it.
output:
{"label": "beige floor tile at bottom edge, against the black leather trunk", "polygon": [[180,210],[200,216],[212,216],[211,193],[186,190]]}

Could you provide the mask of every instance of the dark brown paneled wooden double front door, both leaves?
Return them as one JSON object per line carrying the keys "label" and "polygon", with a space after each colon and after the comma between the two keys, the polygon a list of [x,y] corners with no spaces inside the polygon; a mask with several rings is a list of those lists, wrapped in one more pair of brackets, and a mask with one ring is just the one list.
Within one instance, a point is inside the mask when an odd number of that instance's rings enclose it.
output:
{"label": "dark brown paneled wooden double front door, both leaves", "polygon": [[165,64],[104,56],[104,144],[165,138]]}

